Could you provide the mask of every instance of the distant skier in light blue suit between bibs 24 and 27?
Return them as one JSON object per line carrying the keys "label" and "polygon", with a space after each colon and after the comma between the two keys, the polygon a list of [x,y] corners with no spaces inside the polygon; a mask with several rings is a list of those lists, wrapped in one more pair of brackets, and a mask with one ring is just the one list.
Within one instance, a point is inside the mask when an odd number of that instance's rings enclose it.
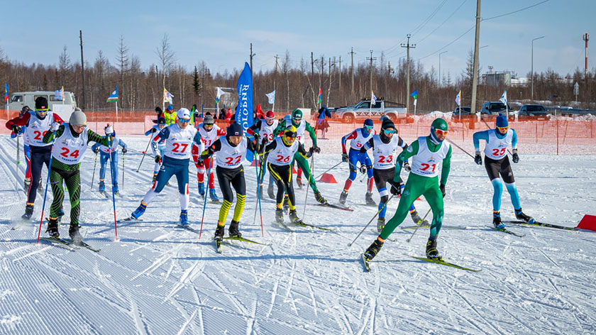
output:
{"label": "distant skier in light blue suit between bibs 24 and 27", "polygon": [[106,131],[106,136],[104,136],[104,138],[108,138],[110,145],[106,146],[95,143],[92,146],[94,153],[97,154],[101,151],[99,155],[99,192],[106,192],[104,178],[106,177],[106,165],[109,159],[111,180],[113,182],[112,190],[116,195],[118,195],[118,145],[122,147],[123,154],[128,151],[128,146],[120,138],[118,138],[118,136],[116,136],[114,127],[110,126],[110,123],[108,123],[108,125],[104,128],[104,131]]}

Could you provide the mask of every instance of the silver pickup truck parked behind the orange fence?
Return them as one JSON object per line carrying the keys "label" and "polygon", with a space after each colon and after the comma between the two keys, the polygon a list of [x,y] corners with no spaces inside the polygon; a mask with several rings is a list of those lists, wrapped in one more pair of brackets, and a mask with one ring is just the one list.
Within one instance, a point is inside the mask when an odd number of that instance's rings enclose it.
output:
{"label": "silver pickup truck parked behind the orange fence", "polygon": [[356,119],[380,119],[381,116],[388,116],[392,121],[405,119],[407,109],[404,104],[397,102],[377,100],[371,107],[370,100],[362,100],[354,106],[341,107],[336,109],[336,117],[343,122],[351,123]]}

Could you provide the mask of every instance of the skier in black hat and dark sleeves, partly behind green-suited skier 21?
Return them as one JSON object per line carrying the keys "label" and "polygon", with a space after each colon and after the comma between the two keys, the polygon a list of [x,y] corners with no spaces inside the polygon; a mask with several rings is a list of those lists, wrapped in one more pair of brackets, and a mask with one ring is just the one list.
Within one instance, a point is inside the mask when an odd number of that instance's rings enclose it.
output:
{"label": "skier in black hat and dark sleeves, partly behind green-suited skier 21", "polygon": [[[395,151],[398,147],[402,150],[406,148],[407,143],[397,135],[395,125],[389,118],[383,120],[381,125],[380,135],[375,135],[373,138],[368,140],[362,148],[360,153],[366,153],[366,150],[373,148],[373,175],[377,191],[381,196],[379,202],[379,218],[377,219],[377,231],[381,232],[385,227],[385,213],[387,212],[387,200],[389,199],[389,192],[387,192],[387,182],[392,187],[402,187],[404,181],[399,178],[398,181],[394,181],[395,162],[396,158]],[[410,166],[407,160],[404,161],[404,169],[409,170]],[[422,220],[414,203],[409,207],[410,216],[415,224],[421,224],[427,226],[428,221]]]}

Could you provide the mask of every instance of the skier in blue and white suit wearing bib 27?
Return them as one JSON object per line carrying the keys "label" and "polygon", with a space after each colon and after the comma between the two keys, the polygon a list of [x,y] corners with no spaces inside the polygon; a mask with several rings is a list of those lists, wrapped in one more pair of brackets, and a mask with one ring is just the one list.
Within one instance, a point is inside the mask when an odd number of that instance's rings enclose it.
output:
{"label": "skier in blue and white suit wearing bib 27", "polygon": [[[131,214],[131,219],[138,219],[148,204],[163,190],[165,183],[172,175],[176,175],[178,192],[180,192],[180,225],[188,225],[188,163],[191,158],[191,145],[202,148],[201,134],[194,127],[189,127],[190,111],[181,108],[177,111],[177,121],[163,128],[151,141],[153,152],[158,150],[158,142],[165,139],[165,153],[158,177],[153,182],[153,187],[148,190],[141,200],[140,205]],[[161,162],[161,155],[155,156],[156,162]]]}

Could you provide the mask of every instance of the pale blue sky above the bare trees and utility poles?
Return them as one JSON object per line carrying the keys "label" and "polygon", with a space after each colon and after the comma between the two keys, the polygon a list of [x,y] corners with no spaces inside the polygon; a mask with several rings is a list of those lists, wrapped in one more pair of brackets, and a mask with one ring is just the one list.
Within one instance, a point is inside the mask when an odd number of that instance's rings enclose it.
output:
{"label": "pale blue sky above the bare trees and utility poles", "polygon": [[[481,16],[499,16],[541,1],[484,0]],[[397,64],[405,56],[399,43],[412,33],[416,43],[412,60],[421,59],[429,70],[438,69],[436,51],[474,25],[475,4],[475,0],[66,0],[53,5],[21,1],[4,6],[10,11],[3,16],[0,48],[13,61],[55,64],[66,45],[71,60],[79,61],[82,30],[85,59],[93,63],[102,50],[114,64],[123,35],[130,53],[147,68],[158,63],[155,49],[167,33],[177,62],[188,69],[201,60],[212,72],[239,69],[248,61],[250,43],[256,54],[255,71],[272,69],[274,56],[283,56],[286,50],[294,66],[301,57],[309,60],[312,51],[315,57],[341,56],[341,66],[347,68],[352,47],[355,62],[364,62],[373,50],[373,57],[379,59],[384,51],[386,59]],[[596,1],[550,0],[482,21],[480,46],[487,45],[480,50],[482,72],[491,65],[493,71],[513,70],[525,77],[531,67],[531,39],[542,35],[546,37],[534,42],[535,72],[549,67],[561,74],[583,69],[582,35],[592,32],[596,41],[594,13]],[[472,29],[441,50],[447,51],[441,55],[441,72],[451,72],[452,78],[460,75],[473,42]],[[588,67],[591,70],[596,63],[590,60]]]}

